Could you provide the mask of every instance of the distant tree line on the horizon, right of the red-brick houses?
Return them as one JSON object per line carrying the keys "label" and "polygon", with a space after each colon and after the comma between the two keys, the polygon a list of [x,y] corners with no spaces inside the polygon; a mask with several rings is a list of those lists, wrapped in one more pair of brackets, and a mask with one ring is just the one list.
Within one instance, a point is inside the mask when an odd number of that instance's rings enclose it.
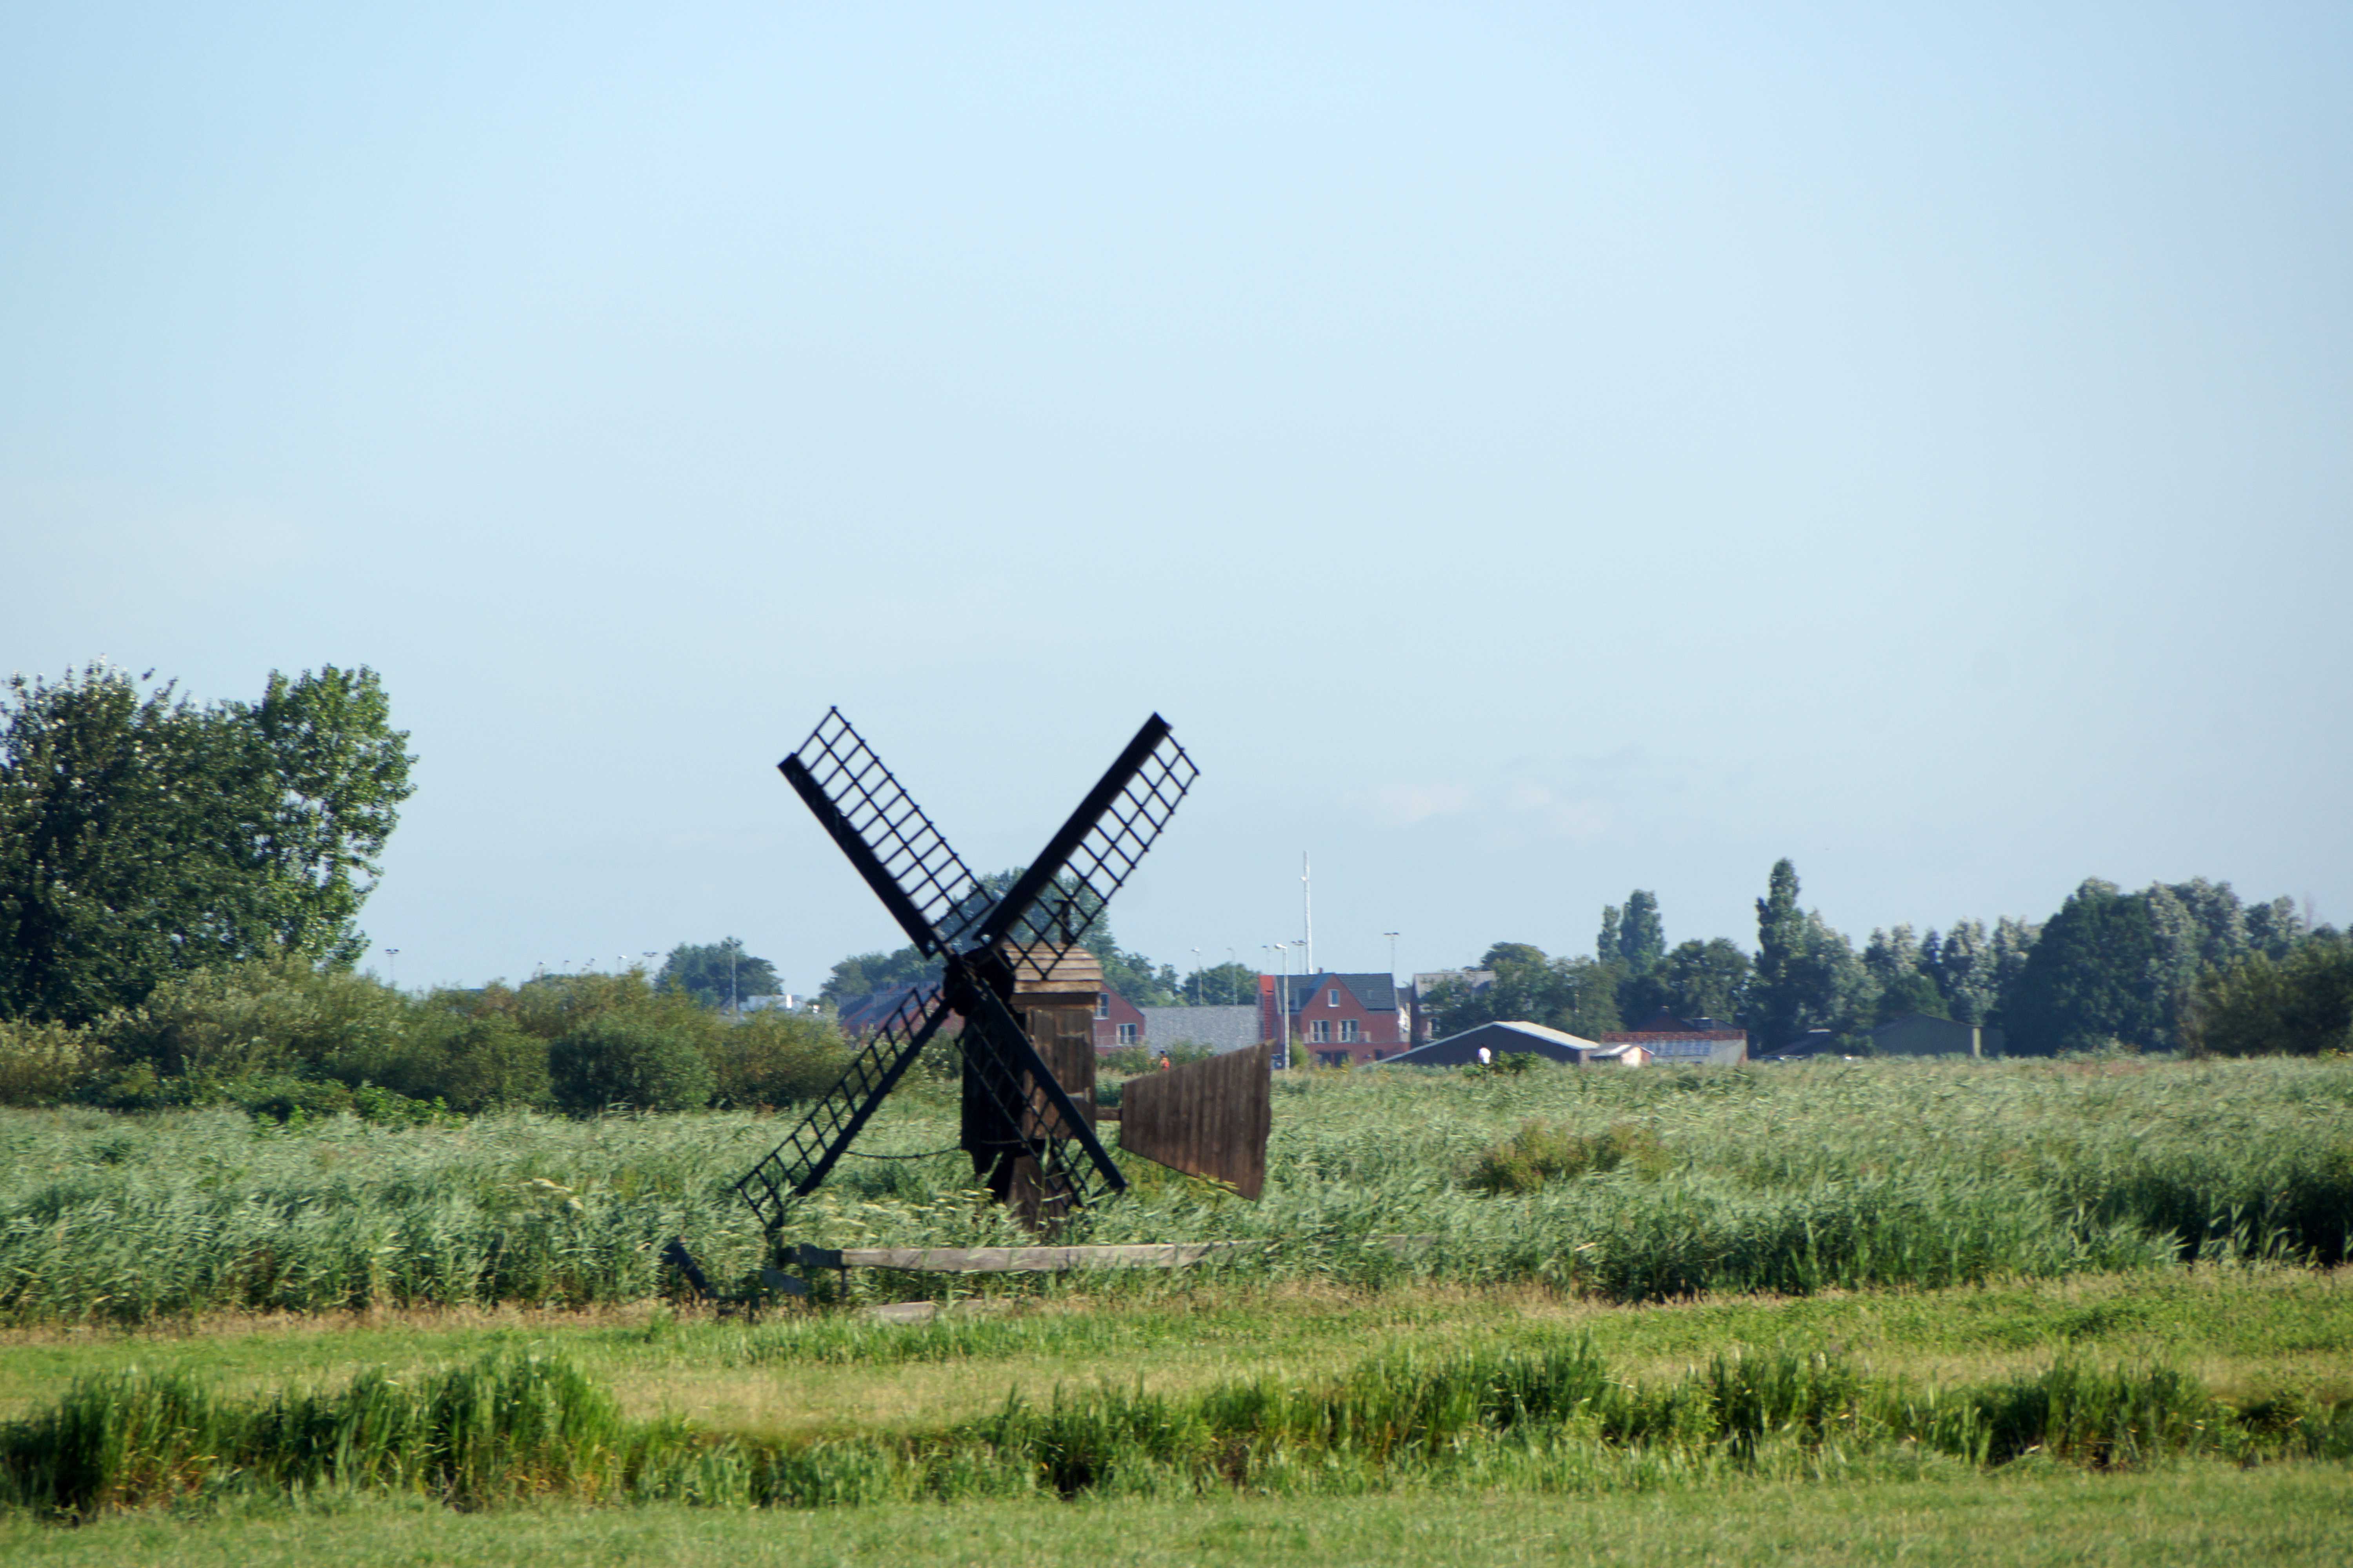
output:
{"label": "distant tree line on the horizon, right of the red-brick houses", "polygon": [[1602,910],[1591,957],[1497,943],[1478,964],[1492,985],[1447,980],[1428,1006],[1449,1034],[1529,1020],[1595,1037],[1666,1011],[1748,1030],[1758,1053],[1814,1030],[1864,1053],[1901,1013],[1998,1027],[2012,1056],[2353,1048],[2353,938],[2306,929],[2289,898],[2242,903],[2228,882],[2127,893],[2094,877],[2040,924],[1899,924],[1861,947],[1800,905],[1791,860],[1755,907],[1755,952],[1720,936],[1668,947],[1657,896],[1635,889]]}

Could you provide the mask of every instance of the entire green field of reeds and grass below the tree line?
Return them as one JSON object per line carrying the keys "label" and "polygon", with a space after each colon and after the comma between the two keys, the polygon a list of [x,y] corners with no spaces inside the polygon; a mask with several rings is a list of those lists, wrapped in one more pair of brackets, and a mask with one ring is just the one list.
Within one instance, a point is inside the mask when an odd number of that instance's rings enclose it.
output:
{"label": "entire green field of reeds and grass below the tree line", "polygon": [[[1264,1251],[758,1321],[654,1253],[755,1267],[727,1182],[774,1121],[14,1112],[0,1549],[2341,1559],[2348,1112],[2334,1060],[1311,1074],[1264,1204],[1144,1168],[1089,1237]],[[1532,1121],[1654,1154],[1489,1197]],[[911,1098],[871,1147],[951,1140]],[[805,1220],[1014,1239],[946,1157]]]}

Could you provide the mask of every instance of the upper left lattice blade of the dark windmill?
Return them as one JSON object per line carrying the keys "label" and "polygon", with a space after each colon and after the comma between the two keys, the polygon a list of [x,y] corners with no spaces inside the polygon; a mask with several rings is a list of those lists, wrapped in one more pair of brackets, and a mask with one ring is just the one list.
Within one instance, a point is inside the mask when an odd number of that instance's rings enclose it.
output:
{"label": "upper left lattice blade of the dark windmill", "polygon": [[776,764],[882,907],[922,952],[946,954],[986,912],[972,875],[840,708]]}

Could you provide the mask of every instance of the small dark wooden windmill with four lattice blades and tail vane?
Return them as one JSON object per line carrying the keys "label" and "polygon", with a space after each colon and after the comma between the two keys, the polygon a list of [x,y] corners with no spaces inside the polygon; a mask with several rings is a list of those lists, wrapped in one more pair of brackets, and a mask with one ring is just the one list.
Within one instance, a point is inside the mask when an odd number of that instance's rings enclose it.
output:
{"label": "small dark wooden windmill with four lattice blades and tail vane", "polygon": [[[1101,969],[1080,936],[1198,776],[1167,722],[1146,719],[1002,896],[972,875],[838,708],[776,766],[908,940],[939,959],[941,978],[913,987],[800,1126],[736,1182],[769,1237],[781,1234],[791,1206],[826,1180],[951,1018],[962,1018],[962,1147],[974,1175],[1033,1229],[1122,1192],[1127,1178],[1094,1135],[1092,1016]],[[1184,1084],[1144,1093],[1141,1143],[1129,1140],[1132,1152],[1195,1173],[1264,1175],[1266,1051],[1235,1053],[1245,1056],[1257,1058],[1254,1095],[1245,1084],[1252,1063],[1226,1058],[1195,1063],[1214,1072],[1186,1072]],[[1240,1086],[1240,1098],[1228,1084]],[[1205,1140],[1200,1117],[1181,1114],[1200,1100],[1238,1105],[1224,1121],[1240,1128],[1245,1145],[1254,1131],[1254,1154],[1245,1147],[1235,1161],[1224,1152],[1235,1138]],[[1207,1159],[1195,1152],[1205,1143],[1217,1145]],[[1249,1192],[1257,1194],[1257,1180]]]}

